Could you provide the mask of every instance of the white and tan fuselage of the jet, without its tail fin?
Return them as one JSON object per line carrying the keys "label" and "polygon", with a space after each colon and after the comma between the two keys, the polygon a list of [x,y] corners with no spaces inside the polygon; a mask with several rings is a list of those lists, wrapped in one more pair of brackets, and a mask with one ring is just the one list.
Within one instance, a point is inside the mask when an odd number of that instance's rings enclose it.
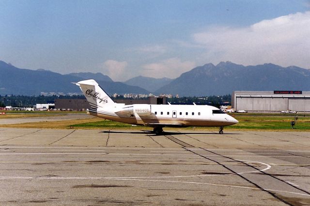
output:
{"label": "white and tan fuselage of the jet, without its tail fin", "polygon": [[151,127],[215,127],[238,123],[235,118],[208,105],[115,103],[109,107],[89,109],[89,112],[96,117]]}

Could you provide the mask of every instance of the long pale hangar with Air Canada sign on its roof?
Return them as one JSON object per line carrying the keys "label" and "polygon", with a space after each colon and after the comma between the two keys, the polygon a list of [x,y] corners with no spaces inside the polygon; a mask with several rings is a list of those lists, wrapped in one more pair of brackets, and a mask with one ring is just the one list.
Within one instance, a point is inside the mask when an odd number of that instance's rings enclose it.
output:
{"label": "long pale hangar with Air Canada sign on its roof", "polygon": [[232,108],[248,112],[310,112],[310,91],[233,91]]}

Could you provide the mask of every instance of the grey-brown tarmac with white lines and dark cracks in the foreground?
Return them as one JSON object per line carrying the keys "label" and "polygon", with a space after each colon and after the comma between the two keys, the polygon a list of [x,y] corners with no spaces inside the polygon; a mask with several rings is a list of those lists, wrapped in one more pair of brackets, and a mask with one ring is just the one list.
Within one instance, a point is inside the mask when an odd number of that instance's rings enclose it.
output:
{"label": "grey-brown tarmac with white lines and dark cracks in the foreground", "polygon": [[310,205],[310,133],[0,128],[0,182],[0,205]]}

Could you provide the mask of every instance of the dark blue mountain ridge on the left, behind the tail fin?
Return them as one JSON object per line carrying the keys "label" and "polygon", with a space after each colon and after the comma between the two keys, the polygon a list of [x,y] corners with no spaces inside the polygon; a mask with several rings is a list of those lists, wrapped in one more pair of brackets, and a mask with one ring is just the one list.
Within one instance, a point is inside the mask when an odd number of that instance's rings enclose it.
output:
{"label": "dark blue mountain ridge on the left, behind the tail fin", "polygon": [[95,79],[99,85],[113,93],[142,93],[149,91],[136,86],[113,82],[108,76],[97,73],[59,74],[47,70],[19,69],[4,61],[0,61],[0,95],[40,95],[42,93],[80,93],[78,86],[71,82],[78,82],[88,78]]}

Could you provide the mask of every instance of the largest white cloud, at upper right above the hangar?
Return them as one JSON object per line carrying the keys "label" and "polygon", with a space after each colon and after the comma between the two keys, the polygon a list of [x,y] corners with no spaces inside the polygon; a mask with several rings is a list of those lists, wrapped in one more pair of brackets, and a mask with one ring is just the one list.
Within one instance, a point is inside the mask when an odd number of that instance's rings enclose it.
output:
{"label": "largest white cloud, at upper right above the hangar", "polygon": [[217,27],[193,34],[213,62],[275,63],[310,68],[310,12],[263,20],[245,28]]}

